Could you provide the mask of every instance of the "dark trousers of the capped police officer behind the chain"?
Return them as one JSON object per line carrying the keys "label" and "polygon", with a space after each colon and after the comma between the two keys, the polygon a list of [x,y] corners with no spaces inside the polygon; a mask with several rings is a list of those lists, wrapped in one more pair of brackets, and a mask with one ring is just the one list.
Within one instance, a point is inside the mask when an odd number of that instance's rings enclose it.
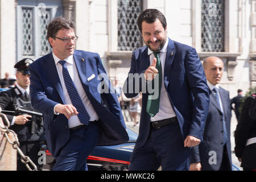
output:
{"label": "dark trousers of the capped police officer behind the chain", "polygon": [[[30,157],[32,162],[38,167],[39,169],[39,164],[38,164],[38,152],[40,151],[41,145],[40,142],[20,142],[19,145],[20,150],[22,150],[23,154]],[[30,163],[28,163],[31,169],[34,169]],[[27,167],[25,164],[23,164],[20,161],[20,155],[17,152],[17,171],[28,171]]]}

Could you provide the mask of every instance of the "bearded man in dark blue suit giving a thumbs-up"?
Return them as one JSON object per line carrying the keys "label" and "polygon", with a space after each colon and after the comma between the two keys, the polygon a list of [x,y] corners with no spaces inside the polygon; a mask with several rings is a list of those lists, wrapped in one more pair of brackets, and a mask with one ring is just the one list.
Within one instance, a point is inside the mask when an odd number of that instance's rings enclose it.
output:
{"label": "bearded man in dark blue suit giving a thumbs-up", "polygon": [[194,48],[168,39],[160,11],[144,10],[138,27],[146,46],[133,51],[123,86],[126,97],[143,94],[129,169],[188,170],[190,147],[203,139],[209,105],[204,69]]}

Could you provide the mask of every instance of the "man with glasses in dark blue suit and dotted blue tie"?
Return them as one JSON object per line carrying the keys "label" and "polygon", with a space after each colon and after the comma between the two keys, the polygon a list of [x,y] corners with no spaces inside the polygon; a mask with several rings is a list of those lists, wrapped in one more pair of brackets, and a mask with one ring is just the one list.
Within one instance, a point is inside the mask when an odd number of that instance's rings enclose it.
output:
{"label": "man with glasses in dark blue suit and dotted blue tie", "polygon": [[75,50],[71,20],[52,20],[47,38],[52,52],[29,67],[31,103],[43,113],[53,170],[85,170],[96,144],[129,139],[121,108],[100,56]]}

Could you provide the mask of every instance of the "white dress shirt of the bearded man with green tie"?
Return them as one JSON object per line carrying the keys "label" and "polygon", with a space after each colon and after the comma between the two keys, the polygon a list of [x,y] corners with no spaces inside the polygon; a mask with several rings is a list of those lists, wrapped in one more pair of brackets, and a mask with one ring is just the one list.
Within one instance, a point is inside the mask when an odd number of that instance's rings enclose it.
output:
{"label": "white dress shirt of the bearded man with green tie", "polygon": [[[175,117],[176,114],[174,113],[174,109],[171,106],[171,102],[169,100],[166,88],[164,86],[164,64],[166,63],[166,53],[167,53],[167,46],[168,46],[168,38],[166,40],[166,43],[164,44],[164,47],[161,49],[159,58],[162,64],[162,88],[160,93],[160,104],[159,104],[159,112],[154,116],[151,117],[151,122],[159,121],[162,119],[168,119]],[[155,58],[153,51],[151,51],[148,48],[148,55],[150,55],[150,65],[153,62],[153,59]],[[169,70],[170,71],[170,70]]]}

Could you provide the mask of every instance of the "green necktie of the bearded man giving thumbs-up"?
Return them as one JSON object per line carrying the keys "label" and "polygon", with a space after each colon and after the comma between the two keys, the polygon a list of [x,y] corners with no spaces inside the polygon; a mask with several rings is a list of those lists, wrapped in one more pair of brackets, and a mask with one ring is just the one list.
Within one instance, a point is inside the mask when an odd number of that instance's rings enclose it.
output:
{"label": "green necktie of the bearded man giving thumbs-up", "polygon": [[[159,111],[160,93],[161,93],[161,86],[162,86],[162,65],[161,65],[161,61],[159,58],[160,52],[153,52],[153,53],[156,57],[155,68],[158,69],[158,75],[154,78],[154,80],[152,80],[152,85],[154,85],[154,82],[156,80],[158,80],[159,86],[158,86],[158,88],[154,88],[153,93],[148,94],[146,111],[151,117],[154,117],[156,115],[156,113],[158,113],[158,111]],[[158,93],[158,97],[156,99],[154,99],[154,97],[152,97],[155,93]]]}

